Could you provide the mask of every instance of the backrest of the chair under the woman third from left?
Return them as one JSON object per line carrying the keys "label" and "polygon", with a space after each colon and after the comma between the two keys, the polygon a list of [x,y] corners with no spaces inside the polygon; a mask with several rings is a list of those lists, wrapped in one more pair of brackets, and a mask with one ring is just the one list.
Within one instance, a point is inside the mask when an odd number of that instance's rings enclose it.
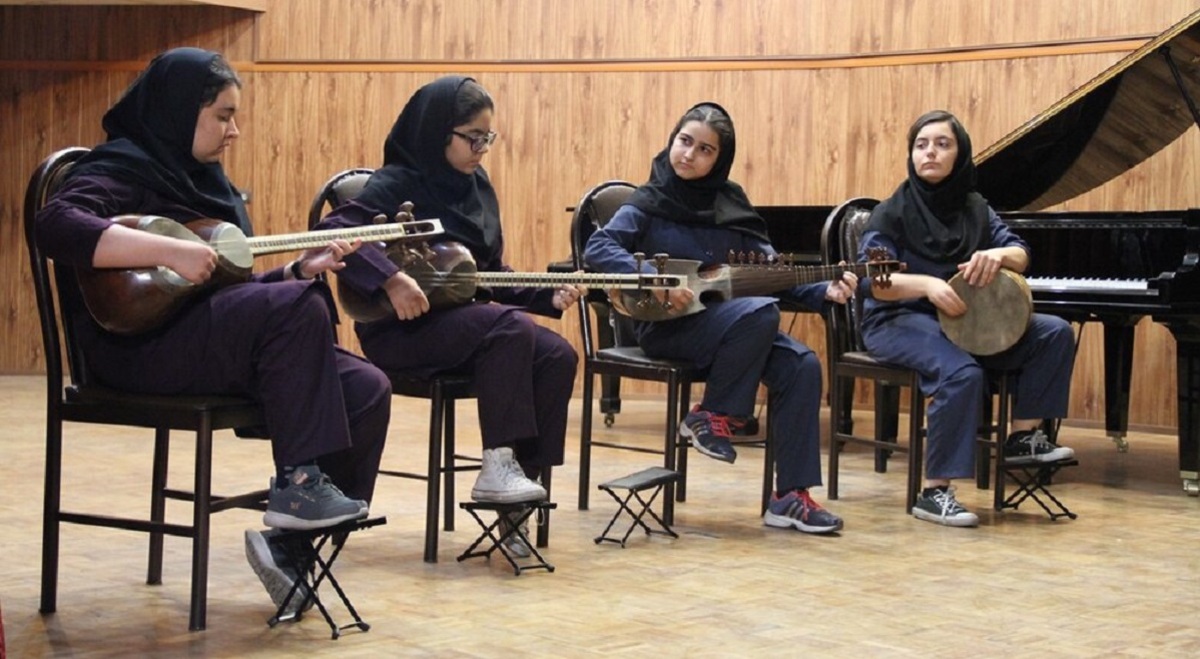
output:
{"label": "backrest of the chair under the woman third from left", "polygon": [[[575,215],[571,216],[571,263],[576,270],[588,269],[583,260],[583,250],[588,239],[617,214],[617,209],[629,199],[635,190],[637,186],[626,181],[605,181],[588,190],[580,203],[575,205]],[[580,305],[580,325],[583,330],[583,353],[586,355],[594,355],[596,348],[588,318],[589,307],[598,313],[604,312],[608,317],[616,346],[637,345],[632,322],[612,310],[604,290],[589,290],[587,302]]]}

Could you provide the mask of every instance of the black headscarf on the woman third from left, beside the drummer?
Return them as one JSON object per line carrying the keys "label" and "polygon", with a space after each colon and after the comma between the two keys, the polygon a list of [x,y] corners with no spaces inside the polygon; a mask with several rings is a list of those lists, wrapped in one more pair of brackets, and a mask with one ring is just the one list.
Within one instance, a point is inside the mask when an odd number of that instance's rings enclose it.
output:
{"label": "black headscarf on the woman third from left, beside the drummer", "polygon": [[[730,168],[733,167],[733,155],[737,151],[737,137],[732,131],[730,136],[720,136],[716,162],[703,178],[680,179],[671,167],[671,145],[674,144],[676,136],[684,124],[695,120],[689,114],[702,108],[714,108],[726,118],[730,116],[725,108],[713,102],[689,108],[671,131],[667,148],[654,156],[650,180],[638,187],[626,203],[674,222],[718,224],[767,240],[767,222],[750,204],[742,186],[730,180]],[[733,127],[733,119],[730,119],[730,127]]]}

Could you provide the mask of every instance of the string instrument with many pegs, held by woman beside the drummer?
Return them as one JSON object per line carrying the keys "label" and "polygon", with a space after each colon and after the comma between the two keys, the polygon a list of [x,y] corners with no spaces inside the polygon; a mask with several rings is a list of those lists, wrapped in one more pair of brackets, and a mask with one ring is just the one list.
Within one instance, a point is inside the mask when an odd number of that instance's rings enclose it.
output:
{"label": "string instrument with many pegs, held by woman beside the drummer", "polygon": [[[634,254],[637,257],[638,254]],[[701,268],[698,260],[655,257],[655,266],[664,275],[686,277],[695,296],[686,308],[673,308],[642,292],[622,292],[610,295],[613,307],[637,320],[670,320],[703,311],[706,301],[728,300],[748,295],[772,295],[794,286],[818,281],[840,280],[844,272],[869,277],[875,286],[892,284],[889,276],[901,272],[905,264],[887,260],[887,252],[868,254],[866,263],[840,265],[794,265],[790,256],[768,257],[762,253],[730,253],[730,263]]]}

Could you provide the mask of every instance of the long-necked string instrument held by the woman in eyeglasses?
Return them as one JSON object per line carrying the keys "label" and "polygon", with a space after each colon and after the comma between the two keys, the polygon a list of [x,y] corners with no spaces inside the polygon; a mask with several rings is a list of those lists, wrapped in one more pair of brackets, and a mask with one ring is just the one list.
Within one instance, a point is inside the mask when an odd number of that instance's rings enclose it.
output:
{"label": "long-necked string instrument held by the woman in eyeglasses", "polygon": [[[454,241],[434,245],[403,245],[388,250],[401,270],[416,280],[430,300],[430,308],[444,308],[476,299],[480,288],[587,286],[611,289],[655,290],[683,288],[686,277],[674,275],[606,275],[598,272],[494,272],[479,271],[470,251]],[[391,301],[385,294],[367,298],[349,286],[337,282],[337,298],[346,314],[360,323],[395,318]]]}

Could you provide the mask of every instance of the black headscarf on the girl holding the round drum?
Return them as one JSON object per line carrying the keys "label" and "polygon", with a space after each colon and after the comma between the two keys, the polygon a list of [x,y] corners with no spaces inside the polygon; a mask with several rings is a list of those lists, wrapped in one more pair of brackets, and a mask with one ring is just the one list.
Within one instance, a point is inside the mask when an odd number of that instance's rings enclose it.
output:
{"label": "black headscarf on the girl holding the round drum", "polygon": [[[949,121],[959,143],[950,175],[936,185],[917,175],[912,145],[928,124]],[[875,206],[868,230],[877,230],[932,262],[961,263],[986,246],[988,200],[976,192],[976,167],[971,136],[949,113],[923,115],[908,136],[908,179]]]}

